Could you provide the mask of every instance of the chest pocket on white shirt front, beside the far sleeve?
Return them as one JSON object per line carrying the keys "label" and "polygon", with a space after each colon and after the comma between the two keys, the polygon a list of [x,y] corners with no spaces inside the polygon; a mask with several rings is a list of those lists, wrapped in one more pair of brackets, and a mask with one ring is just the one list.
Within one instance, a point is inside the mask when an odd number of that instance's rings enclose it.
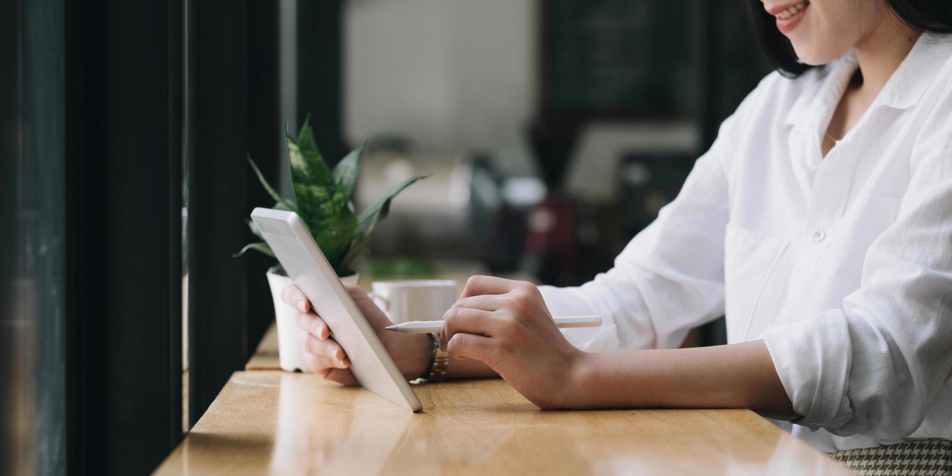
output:
{"label": "chest pocket on white shirt front, beside the far sleeve", "polygon": [[727,224],[724,234],[724,313],[728,343],[745,342],[749,338],[751,320],[757,315],[768,283],[776,281],[778,263],[787,245],[783,239]]}

